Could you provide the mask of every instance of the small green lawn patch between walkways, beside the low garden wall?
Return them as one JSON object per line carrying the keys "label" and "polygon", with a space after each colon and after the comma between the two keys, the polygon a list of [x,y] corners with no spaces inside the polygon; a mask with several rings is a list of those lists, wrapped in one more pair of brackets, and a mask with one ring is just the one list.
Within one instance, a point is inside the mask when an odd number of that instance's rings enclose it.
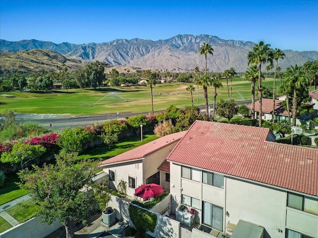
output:
{"label": "small green lawn patch between walkways, beside the low garden wall", "polygon": [[39,205],[36,205],[33,200],[29,200],[6,210],[6,212],[17,220],[19,223],[26,222],[35,216]]}

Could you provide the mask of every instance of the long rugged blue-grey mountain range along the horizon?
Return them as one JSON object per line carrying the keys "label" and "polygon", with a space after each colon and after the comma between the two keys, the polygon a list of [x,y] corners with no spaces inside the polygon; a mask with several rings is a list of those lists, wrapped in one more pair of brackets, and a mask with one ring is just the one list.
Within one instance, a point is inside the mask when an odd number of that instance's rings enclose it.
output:
{"label": "long rugged blue-grey mountain range along the horizon", "polygon": [[[71,59],[81,59],[80,63],[99,60],[105,61],[109,65],[125,65],[143,69],[168,69],[169,71],[174,69],[182,72],[196,66],[203,70],[205,58],[199,54],[199,48],[204,42],[209,42],[214,49],[213,56],[208,55],[207,57],[208,69],[214,72],[223,72],[230,67],[234,67],[237,72],[244,72],[247,68],[247,53],[251,51],[255,44],[250,41],[223,40],[211,35],[177,35],[158,41],[138,38],[131,40],[117,39],[105,43],[81,45],[67,42],[55,44],[38,40],[18,42],[0,40],[0,52],[46,49],[66,55]],[[318,59],[317,51],[282,50],[286,54],[284,60],[278,61],[282,71],[296,63],[302,65],[306,61]],[[263,71],[265,71],[265,68]]]}

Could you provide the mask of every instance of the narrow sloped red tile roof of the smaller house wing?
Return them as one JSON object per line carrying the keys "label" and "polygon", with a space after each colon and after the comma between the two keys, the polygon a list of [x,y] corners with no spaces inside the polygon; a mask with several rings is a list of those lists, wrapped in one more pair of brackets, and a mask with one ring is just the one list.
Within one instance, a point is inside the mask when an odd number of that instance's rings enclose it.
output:
{"label": "narrow sloped red tile roof of the smaller house wing", "polygon": [[126,151],[108,160],[104,160],[100,163],[100,166],[117,164],[130,160],[144,159],[146,156],[179,141],[185,135],[185,133],[186,131],[181,131],[174,134],[163,136],[157,140],[141,145],[132,150]]}

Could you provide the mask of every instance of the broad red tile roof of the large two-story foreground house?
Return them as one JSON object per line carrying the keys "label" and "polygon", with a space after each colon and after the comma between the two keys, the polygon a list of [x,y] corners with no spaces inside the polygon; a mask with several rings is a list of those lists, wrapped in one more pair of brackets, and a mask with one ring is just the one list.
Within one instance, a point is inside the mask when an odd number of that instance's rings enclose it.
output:
{"label": "broad red tile roof of the large two-story foreground house", "polygon": [[268,136],[268,128],[197,120],[167,161],[318,196],[318,149]]}

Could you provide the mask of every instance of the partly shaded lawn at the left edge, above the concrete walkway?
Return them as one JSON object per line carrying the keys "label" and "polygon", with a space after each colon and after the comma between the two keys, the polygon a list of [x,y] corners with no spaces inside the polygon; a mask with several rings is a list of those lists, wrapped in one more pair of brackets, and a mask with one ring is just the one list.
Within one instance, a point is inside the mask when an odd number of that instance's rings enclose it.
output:
{"label": "partly shaded lawn at the left edge, above the concrete walkway", "polygon": [[19,182],[17,174],[11,173],[6,175],[4,186],[0,188],[0,205],[21,197],[29,192],[19,188],[16,182]]}

